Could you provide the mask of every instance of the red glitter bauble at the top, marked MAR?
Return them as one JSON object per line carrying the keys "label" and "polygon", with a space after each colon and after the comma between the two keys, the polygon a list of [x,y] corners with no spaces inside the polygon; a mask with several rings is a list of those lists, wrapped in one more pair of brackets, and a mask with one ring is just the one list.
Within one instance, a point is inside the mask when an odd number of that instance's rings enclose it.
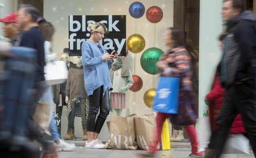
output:
{"label": "red glitter bauble at the top, marked MAR", "polygon": [[161,8],[152,6],[146,11],[146,18],[150,23],[158,23],[162,20],[164,13]]}

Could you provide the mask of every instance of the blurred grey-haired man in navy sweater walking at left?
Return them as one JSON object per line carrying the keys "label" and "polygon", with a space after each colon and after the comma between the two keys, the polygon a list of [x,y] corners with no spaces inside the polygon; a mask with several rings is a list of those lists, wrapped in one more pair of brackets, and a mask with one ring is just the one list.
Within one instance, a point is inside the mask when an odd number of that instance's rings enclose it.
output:
{"label": "blurred grey-haired man in navy sweater walking at left", "polygon": [[33,119],[35,109],[39,98],[42,97],[46,90],[46,83],[44,79],[44,38],[39,32],[37,18],[39,16],[39,10],[32,5],[21,5],[18,9],[17,23],[21,30],[24,31],[20,46],[34,48],[37,50],[37,59],[35,61],[35,82],[34,93],[32,101],[28,107],[28,114],[26,118],[27,131],[30,138],[37,140],[43,145],[46,154],[57,155],[52,152],[50,144],[47,143],[42,133],[35,127]]}

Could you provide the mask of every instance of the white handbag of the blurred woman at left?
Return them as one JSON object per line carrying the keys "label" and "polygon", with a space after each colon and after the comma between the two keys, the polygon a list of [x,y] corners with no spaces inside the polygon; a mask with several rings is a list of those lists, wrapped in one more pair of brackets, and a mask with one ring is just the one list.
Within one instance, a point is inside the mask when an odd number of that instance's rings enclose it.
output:
{"label": "white handbag of the blurred woman at left", "polygon": [[67,80],[68,71],[65,61],[47,62],[44,66],[44,78],[47,85],[57,85]]}

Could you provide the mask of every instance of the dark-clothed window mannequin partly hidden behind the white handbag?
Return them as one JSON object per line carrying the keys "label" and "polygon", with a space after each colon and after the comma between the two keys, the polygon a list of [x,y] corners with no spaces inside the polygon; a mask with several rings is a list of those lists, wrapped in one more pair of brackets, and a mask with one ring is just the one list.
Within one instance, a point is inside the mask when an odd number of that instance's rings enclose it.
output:
{"label": "dark-clothed window mannequin partly hidden behind the white handbag", "polygon": [[[70,57],[68,55],[68,48],[64,48],[63,52],[64,53],[62,53],[60,55],[60,61],[65,61],[67,64],[67,69],[69,69]],[[56,118],[55,119],[56,119],[56,124],[58,127],[58,133],[60,135],[61,135],[60,131],[61,131],[62,108],[63,108],[63,106],[66,105],[66,102],[65,102],[66,84],[67,84],[67,82],[58,84],[58,85],[53,85],[53,101],[56,104],[56,114],[55,114]],[[62,105],[60,105],[60,100],[62,102]]]}

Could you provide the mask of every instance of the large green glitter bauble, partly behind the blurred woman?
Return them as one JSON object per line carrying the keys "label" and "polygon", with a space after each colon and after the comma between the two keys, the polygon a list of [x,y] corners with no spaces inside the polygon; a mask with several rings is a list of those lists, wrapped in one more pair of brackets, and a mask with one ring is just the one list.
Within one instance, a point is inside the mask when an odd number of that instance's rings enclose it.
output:
{"label": "large green glitter bauble, partly behind the blurred woman", "polygon": [[156,63],[163,54],[163,50],[156,47],[148,48],[147,50],[145,50],[141,55],[142,69],[151,75],[159,73]]}

